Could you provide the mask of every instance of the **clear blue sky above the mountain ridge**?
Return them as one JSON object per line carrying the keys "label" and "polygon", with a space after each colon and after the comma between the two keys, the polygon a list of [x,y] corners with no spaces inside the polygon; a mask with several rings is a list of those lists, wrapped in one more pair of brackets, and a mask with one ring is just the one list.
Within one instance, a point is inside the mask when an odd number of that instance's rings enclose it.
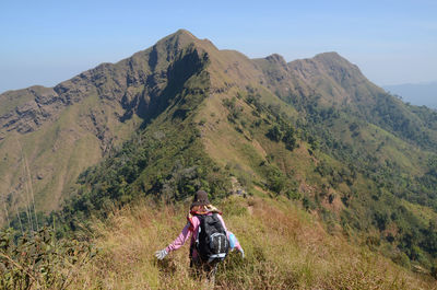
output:
{"label": "clear blue sky above the mountain ridge", "polygon": [[186,28],[287,61],[338,51],[375,83],[437,80],[437,1],[0,1],[0,92],[52,86]]}

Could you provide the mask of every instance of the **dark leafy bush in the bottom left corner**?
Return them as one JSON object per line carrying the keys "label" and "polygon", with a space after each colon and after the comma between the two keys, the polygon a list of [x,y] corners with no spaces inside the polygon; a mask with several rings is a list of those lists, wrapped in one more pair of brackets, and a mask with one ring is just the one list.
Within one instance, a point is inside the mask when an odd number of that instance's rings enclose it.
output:
{"label": "dark leafy bush in the bottom left corner", "polygon": [[90,244],[57,240],[48,228],[14,240],[11,229],[0,232],[1,289],[67,289],[73,269],[95,255]]}

